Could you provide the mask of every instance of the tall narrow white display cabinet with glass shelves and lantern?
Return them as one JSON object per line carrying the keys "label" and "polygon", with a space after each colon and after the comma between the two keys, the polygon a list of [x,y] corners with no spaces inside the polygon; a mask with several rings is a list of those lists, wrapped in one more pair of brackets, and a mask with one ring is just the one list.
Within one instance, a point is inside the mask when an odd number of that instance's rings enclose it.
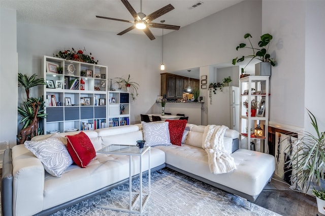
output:
{"label": "tall narrow white display cabinet with glass shelves and lantern", "polygon": [[[247,142],[250,149],[251,142],[255,148],[259,144],[259,151],[268,153],[268,128],[269,128],[269,76],[246,76],[239,79],[240,105],[239,105],[239,129],[241,142]],[[243,102],[248,101],[248,109],[251,110],[251,101],[257,102],[256,115],[246,114]],[[261,106],[261,104],[264,104]],[[263,129],[262,136],[254,135],[257,124]],[[256,148],[257,150],[257,148]]]}

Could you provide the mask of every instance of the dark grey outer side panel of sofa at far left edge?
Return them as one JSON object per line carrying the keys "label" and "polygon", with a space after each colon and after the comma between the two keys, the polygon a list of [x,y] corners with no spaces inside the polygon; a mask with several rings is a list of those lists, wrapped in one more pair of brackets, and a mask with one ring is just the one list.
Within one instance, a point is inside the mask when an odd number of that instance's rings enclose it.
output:
{"label": "dark grey outer side panel of sofa at far left edge", "polygon": [[12,157],[11,149],[6,149],[2,164],[1,207],[2,215],[12,215]]}

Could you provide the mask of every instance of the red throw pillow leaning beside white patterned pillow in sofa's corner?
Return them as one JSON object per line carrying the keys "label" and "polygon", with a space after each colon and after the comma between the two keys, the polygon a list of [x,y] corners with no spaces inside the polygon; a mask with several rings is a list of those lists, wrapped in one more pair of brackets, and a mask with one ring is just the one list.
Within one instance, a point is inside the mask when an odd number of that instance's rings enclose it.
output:
{"label": "red throw pillow leaning beside white patterned pillow in sofa's corner", "polygon": [[166,120],[169,122],[169,136],[171,138],[171,143],[173,145],[181,146],[182,145],[182,137],[184,133],[184,129],[187,123],[186,119],[182,120]]}

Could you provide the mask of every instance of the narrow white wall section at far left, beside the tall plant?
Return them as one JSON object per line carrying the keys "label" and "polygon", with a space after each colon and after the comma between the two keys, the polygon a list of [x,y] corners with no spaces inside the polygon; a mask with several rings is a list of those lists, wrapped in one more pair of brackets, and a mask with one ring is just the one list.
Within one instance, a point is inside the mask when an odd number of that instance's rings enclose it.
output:
{"label": "narrow white wall section at far left, beside the tall plant", "polygon": [[0,11],[0,141],[16,144],[17,135],[17,30],[16,11]]}

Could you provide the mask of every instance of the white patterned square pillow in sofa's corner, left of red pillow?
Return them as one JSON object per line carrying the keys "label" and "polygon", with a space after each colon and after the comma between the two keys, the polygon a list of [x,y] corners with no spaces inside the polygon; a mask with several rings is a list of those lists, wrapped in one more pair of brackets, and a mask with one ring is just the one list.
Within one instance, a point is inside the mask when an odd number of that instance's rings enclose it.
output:
{"label": "white patterned square pillow in sofa's corner, left of red pillow", "polygon": [[169,122],[146,123],[142,121],[141,123],[146,146],[172,145],[168,129]]}

